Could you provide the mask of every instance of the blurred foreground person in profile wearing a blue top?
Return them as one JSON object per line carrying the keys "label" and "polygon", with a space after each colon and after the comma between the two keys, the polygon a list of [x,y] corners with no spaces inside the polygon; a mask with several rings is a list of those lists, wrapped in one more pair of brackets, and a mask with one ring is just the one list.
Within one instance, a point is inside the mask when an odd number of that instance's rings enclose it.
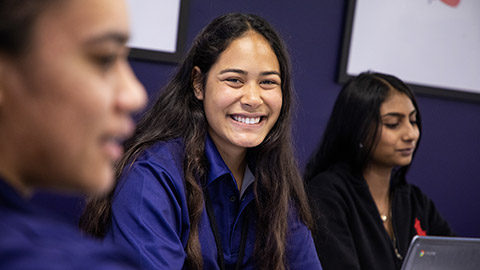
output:
{"label": "blurred foreground person in profile wearing a blue top", "polygon": [[113,183],[146,95],[118,0],[0,2],[0,268],[123,269],[135,262],[29,202],[37,189]]}

